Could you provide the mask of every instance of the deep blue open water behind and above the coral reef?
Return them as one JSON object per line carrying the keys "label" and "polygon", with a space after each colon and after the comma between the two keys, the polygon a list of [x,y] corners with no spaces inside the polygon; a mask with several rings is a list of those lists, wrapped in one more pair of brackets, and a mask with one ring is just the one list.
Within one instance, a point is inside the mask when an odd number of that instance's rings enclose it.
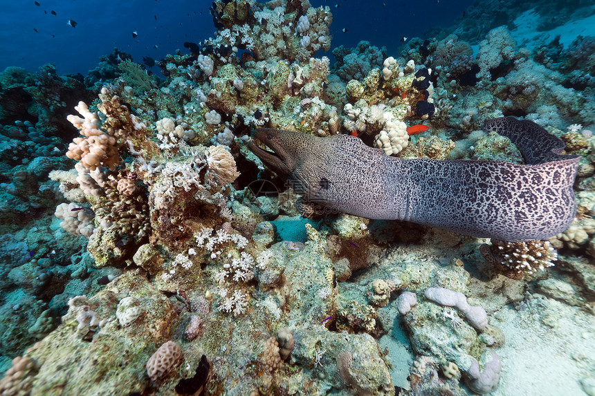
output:
{"label": "deep blue open water behind and above the coral reef", "polygon": [[[52,63],[57,73],[86,74],[101,55],[114,47],[130,53],[136,62],[144,56],[156,60],[183,48],[185,41],[214,37],[210,1],[57,1],[1,2],[0,70],[20,66],[35,72]],[[355,47],[360,40],[386,46],[389,53],[403,37],[421,36],[439,26],[449,26],[473,1],[421,0],[311,1],[313,7],[329,6],[333,13],[333,48]],[[338,7],[336,7],[338,6]],[[52,15],[54,10],[57,15]],[[68,26],[68,19],[77,22]],[[35,32],[37,29],[38,32]],[[346,32],[342,30],[346,29]],[[138,37],[133,38],[136,31]],[[157,46],[157,48],[154,48]]]}

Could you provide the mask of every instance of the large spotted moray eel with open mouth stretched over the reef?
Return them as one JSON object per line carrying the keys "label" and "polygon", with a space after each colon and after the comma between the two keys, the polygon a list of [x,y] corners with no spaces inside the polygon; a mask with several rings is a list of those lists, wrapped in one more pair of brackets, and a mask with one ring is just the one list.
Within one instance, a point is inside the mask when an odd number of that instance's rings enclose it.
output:
{"label": "large spotted moray eel with open mouth stretched over the reef", "polygon": [[484,131],[509,138],[525,164],[487,160],[402,160],[349,135],[318,138],[257,129],[271,151],[248,144],[307,202],[372,219],[398,219],[501,241],[546,239],[576,213],[572,185],[578,155],[538,124],[487,120]]}

